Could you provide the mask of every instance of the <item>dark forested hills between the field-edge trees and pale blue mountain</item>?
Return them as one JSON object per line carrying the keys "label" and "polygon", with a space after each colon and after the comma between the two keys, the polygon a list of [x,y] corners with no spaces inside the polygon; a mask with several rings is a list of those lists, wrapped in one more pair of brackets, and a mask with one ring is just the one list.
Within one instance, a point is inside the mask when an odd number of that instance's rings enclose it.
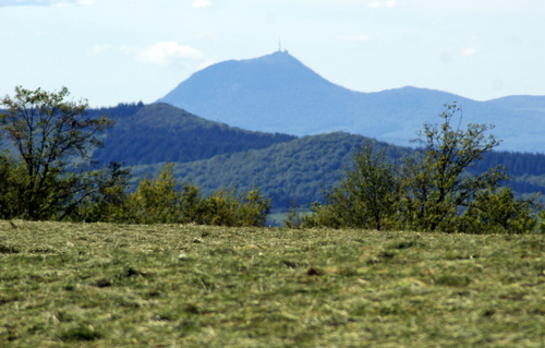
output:
{"label": "dark forested hills between the field-edge trees and pale blue mountain", "polygon": [[[392,163],[414,151],[344,132],[303,137],[251,132],[166,104],[120,104],[88,112],[117,120],[105,146],[95,152],[99,161],[122,163],[135,177],[158,175],[165,164],[174,163],[175,178],[201,185],[205,193],[255,184],[276,208],[323,202],[323,191],[340,180],[355,151],[365,145],[387,147]],[[498,165],[507,168],[511,180],[506,184],[517,193],[544,191],[545,154],[494,151],[470,170],[484,172]]]}

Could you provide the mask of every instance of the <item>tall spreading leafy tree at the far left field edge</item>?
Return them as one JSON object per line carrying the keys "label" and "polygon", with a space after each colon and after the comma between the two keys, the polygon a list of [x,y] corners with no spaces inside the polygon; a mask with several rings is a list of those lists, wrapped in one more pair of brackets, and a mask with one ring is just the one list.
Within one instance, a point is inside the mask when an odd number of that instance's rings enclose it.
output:
{"label": "tall spreading leafy tree at the far left field edge", "polygon": [[113,122],[88,117],[87,103],[68,101],[69,95],[65,87],[57,93],[16,87],[13,97],[0,99],[7,108],[0,131],[17,155],[12,216],[63,218],[100,184],[89,171],[90,154]]}

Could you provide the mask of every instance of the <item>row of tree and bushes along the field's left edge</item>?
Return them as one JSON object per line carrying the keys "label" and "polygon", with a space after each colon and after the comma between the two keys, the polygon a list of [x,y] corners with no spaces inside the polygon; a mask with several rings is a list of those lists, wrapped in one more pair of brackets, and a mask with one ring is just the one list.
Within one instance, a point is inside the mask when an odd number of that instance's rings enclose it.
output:
{"label": "row of tree and bushes along the field's left edge", "polygon": [[[172,166],[129,192],[130,172],[118,163],[100,167],[94,149],[113,125],[89,115],[87,101],[70,93],[15,88],[0,100],[0,218],[116,223],[196,223],[261,226],[270,200],[255,188],[223,189],[202,196],[197,185],[177,183]],[[135,106],[137,108],[138,106]]]}

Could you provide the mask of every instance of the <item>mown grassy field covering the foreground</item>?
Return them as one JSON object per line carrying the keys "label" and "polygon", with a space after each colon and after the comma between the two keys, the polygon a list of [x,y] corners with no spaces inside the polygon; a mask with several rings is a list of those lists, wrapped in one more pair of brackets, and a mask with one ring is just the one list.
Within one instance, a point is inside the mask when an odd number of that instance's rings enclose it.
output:
{"label": "mown grassy field covering the foreground", "polygon": [[0,347],[544,347],[545,236],[0,221]]}

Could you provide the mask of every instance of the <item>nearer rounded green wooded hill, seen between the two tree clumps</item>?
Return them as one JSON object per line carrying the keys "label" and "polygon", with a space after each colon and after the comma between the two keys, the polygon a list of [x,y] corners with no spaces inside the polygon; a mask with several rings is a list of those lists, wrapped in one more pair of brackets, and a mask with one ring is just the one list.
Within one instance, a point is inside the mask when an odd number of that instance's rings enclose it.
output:
{"label": "nearer rounded green wooded hill, seen between the two tree clumps", "polygon": [[[390,158],[407,155],[408,148],[389,146],[362,135],[343,132],[303,136],[264,149],[225,154],[210,159],[174,166],[180,181],[197,183],[204,193],[222,187],[242,191],[254,184],[272,199],[274,207],[323,201],[323,191],[337,184],[356,149],[365,145],[388,148]],[[164,164],[162,164],[164,165]],[[157,175],[160,166],[133,168],[136,176]]]}

